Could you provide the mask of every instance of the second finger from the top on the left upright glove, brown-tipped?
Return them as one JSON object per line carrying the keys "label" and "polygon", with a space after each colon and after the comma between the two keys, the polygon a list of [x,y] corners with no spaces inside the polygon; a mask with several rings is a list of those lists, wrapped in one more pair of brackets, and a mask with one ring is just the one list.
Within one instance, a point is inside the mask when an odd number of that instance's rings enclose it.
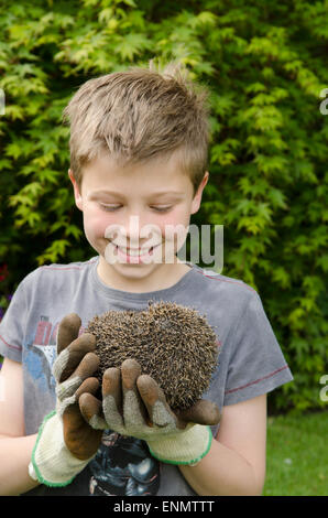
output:
{"label": "second finger from the top on the left upright glove, brown-tipped", "polygon": [[96,337],[90,333],[84,333],[63,349],[53,366],[53,374],[57,382],[69,378],[84,356],[95,348]]}

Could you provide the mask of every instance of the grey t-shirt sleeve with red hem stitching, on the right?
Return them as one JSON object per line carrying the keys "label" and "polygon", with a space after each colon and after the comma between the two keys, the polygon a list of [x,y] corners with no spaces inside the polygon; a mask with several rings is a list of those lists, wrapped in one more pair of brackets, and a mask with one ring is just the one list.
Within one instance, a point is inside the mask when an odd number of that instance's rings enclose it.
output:
{"label": "grey t-shirt sleeve with red hem stitching, on the right", "polygon": [[293,380],[255,291],[250,292],[233,331],[223,404],[245,401]]}

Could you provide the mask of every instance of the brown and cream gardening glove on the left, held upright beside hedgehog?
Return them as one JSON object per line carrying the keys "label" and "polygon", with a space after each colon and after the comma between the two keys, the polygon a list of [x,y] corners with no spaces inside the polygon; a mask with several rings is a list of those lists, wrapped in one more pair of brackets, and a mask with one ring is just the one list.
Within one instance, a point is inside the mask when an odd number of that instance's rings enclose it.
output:
{"label": "brown and cream gardening glove on the left, held upright beside hedgehog", "polygon": [[99,382],[90,376],[99,359],[92,353],[91,334],[78,337],[80,319],[72,313],[58,327],[57,358],[53,365],[56,380],[56,409],[40,427],[29,473],[47,486],[66,486],[96,454],[102,432],[94,430],[79,410],[80,395],[96,393]]}

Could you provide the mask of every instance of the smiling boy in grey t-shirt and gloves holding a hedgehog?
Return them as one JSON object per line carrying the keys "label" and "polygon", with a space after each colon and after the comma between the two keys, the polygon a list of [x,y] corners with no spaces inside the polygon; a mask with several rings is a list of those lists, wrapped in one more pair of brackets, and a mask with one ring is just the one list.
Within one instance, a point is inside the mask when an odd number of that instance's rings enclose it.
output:
{"label": "smiling boy in grey t-shirt and gloves holding a hedgehog", "polygon": [[[97,256],[30,273],[1,322],[0,493],[260,495],[265,395],[292,379],[289,369],[253,289],[175,255],[165,260],[181,238],[166,229],[188,227],[208,181],[204,94],[174,67],[134,69],[87,82],[64,115],[68,174]],[[220,424],[201,407],[181,427],[133,361],[122,378],[103,377],[103,400],[113,406],[99,408],[95,344],[83,330],[97,314],[143,310],[149,300],[193,306],[218,330],[219,365],[205,398],[218,406]],[[146,424],[139,433],[133,411],[122,422],[113,408],[121,389],[150,412],[161,403],[176,433],[158,438],[161,427]]]}

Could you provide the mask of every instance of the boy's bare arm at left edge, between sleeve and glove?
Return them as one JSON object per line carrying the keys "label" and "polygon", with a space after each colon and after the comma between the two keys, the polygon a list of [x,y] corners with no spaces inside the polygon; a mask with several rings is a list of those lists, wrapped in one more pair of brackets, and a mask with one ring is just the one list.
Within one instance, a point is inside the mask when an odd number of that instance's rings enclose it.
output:
{"label": "boy's bare arm at left edge, between sleeve and glove", "polygon": [[36,434],[24,434],[22,365],[4,358],[0,370],[0,495],[19,495],[39,485],[28,472]]}

